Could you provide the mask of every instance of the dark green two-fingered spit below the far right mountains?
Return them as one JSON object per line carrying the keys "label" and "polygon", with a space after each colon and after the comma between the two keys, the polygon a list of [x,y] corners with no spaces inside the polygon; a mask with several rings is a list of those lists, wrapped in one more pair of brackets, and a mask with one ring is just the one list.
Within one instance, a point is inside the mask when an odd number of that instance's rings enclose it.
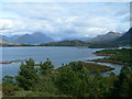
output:
{"label": "dark green two-fingered spit below the far right mountains", "polygon": [[92,62],[113,63],[113,64],[131,64],[132,48],[122,50],[103,50],[95,53],[99,56],[110,56],[106,58],[95,59]]}

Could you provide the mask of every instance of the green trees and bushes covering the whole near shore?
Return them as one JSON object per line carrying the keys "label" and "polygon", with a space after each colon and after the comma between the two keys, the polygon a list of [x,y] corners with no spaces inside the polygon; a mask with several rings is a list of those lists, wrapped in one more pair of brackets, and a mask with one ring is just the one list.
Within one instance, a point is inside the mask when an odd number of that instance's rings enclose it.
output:
{"label": "green trees and bushes covering the whole near shore", "polygon": [[[113,51],[108,51],[106,54],[112,55],[110,52]],[[125,52],[130,51],[127,50]],[[121,50],[120,54],[121,53],[124,53],[124,51]],[[30,58],[25,63],[21,64],[18,76],[6,76],[3,78],[3,96],[95,98],[131,97],[131,63],[122,67],[119,76],[110,73],[108,77],[102,77],[99,70],[102,68],[106,67],[96,64],[85,64],[82,62],[72,62],[54,69],[54,65],[50,59],[44,63],[40,63],[38,68],[35,67],[35,62]],[[95,76],[91,76],[94,70],[96,72]]]}

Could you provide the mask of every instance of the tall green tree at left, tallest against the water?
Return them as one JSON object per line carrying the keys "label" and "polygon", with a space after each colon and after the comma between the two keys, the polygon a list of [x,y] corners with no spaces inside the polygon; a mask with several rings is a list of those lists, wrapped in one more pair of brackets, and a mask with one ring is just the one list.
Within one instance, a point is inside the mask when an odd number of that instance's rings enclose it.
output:
{"label": "tall green tree at left, tallest against the water", "polygon": [[15,77],[15,80],[20,87],[22,87],[25,90],[29,90],[32,88],[34,84],[37,82],[38,76],[36,74],[36,69],[33,67],[34,61],[29,59],[21,64],[19,75]]}

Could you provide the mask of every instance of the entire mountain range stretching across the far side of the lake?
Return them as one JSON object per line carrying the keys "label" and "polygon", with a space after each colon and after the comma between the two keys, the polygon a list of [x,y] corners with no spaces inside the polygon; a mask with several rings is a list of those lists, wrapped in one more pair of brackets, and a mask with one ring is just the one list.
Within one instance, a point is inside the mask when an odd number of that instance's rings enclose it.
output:
{"label": "entire mountain range stretching across the far side of the lake", "polygon": [[[80,38],[80,40],[79,40]],[[92,38],[86,37],[78,37],[78,40],[64,38],[58,42],[54,42],[54,38],[45,35],[42,32],[35,32],[33,34],[24,34],[24,35],[13,35],[13,36],[6,36],[0,35],[0,44],[41,44],[46,46],[76,46],[76,45],[89,45],[96,44],[96,46],[103,46],[105,45],[132,45],[132,28],[125,33],[116,33],[116,32],[108,32],[103,35],[97,35]]]}

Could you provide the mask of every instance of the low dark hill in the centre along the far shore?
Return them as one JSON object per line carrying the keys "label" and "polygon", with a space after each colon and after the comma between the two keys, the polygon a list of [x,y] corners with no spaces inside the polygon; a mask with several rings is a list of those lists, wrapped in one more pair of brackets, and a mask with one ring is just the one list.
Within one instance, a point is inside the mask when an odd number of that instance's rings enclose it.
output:
{"label": "low dark hill in the centre along the far shore", "polygon": [[89,43],[78,40],[66,40],[61,42],[43,43],[43,46],[87,46]]}

